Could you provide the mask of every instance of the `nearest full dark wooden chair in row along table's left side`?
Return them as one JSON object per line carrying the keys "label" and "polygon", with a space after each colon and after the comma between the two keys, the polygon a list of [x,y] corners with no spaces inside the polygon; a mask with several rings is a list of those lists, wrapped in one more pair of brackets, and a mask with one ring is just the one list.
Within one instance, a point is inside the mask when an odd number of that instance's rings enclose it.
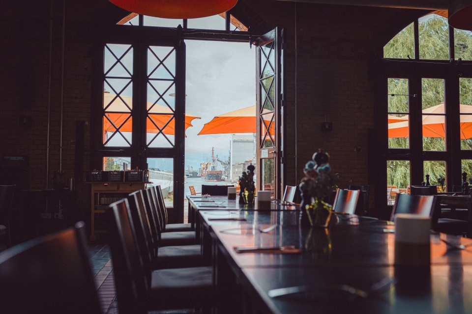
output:
{"label": "nearest full dark wooden chair in row along table's left side", "polygon": [[203,308],[215,302],[212,267],[158,269],[143,267],[128,200],[110,205],[110,250],[120,314]]}

